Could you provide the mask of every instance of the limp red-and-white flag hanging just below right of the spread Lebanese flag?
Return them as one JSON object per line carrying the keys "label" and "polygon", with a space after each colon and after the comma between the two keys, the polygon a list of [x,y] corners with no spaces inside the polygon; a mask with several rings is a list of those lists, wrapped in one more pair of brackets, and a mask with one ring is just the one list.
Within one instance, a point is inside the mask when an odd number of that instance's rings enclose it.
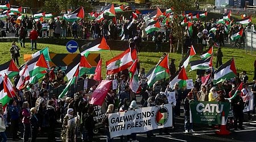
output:
{"label": "limp red-and-white flag hanging just below right of the spread Lebanese flag", "polygon": [[139,73],[138,73],[138,59],[133,62],[131,68],[129,69],[130,74],[130,88],[134,93],[141,91],[141,85],[139,84]]}

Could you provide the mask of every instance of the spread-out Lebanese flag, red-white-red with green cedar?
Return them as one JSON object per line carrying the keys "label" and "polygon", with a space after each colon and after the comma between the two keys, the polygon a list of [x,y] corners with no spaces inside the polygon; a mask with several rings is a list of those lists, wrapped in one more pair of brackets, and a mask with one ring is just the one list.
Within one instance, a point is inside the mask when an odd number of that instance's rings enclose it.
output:
{"label": "spread-out Lebanese flag, red-white-red with green cedar", "polygon": [[114,74],[121,72],[133,65],[133,61],[137,59],[136,50],[130,51],[130,48],[125,52],[115,56],[113,59],[106,61],[106,74]]}

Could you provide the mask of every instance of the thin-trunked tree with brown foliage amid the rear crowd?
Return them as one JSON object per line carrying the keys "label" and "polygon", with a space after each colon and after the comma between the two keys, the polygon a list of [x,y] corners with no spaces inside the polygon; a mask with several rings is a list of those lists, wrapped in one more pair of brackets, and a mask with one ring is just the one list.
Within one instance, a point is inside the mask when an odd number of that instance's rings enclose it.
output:
{"label": "thin-trunked tree with brown foliage amid the rear crowd", "polygon": [[172,20],[172,33],[175,39],[177,39],[177,49],[181,48],[181,53],[184,55],[183,39],[184,39],[184,26],[181,24],[184,17],[183,13],[185,10],[193,10],[193,2],[190,0],[151,0],[152,3],[160,8],[171,8],[174,12],[174,18]]}

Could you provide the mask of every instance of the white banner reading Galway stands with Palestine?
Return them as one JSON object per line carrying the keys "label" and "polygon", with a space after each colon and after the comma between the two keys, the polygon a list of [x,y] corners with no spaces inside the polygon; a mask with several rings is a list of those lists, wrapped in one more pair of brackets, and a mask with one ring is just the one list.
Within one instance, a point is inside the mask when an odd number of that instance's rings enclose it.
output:
{"label": "white banner reading Galway stands with Palestine", "polygon": [[167,104],[116,112],[109,114],[108,120],[110,137],[146,132],[172,126],[172,107]]}

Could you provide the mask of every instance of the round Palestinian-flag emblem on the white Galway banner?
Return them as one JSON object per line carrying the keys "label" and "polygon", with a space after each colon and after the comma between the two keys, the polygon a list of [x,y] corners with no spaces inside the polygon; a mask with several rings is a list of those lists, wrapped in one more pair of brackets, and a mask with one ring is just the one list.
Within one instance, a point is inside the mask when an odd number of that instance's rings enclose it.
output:
{"label": "round Palestinian-flag emblem on the white Galway banner", "polygon": [[155,116],[155,123],[158,124],[158,126],[163,126],[166,124],[168,120],[168,110],[166,107],[161,107],[156,111],[156,116]]}

